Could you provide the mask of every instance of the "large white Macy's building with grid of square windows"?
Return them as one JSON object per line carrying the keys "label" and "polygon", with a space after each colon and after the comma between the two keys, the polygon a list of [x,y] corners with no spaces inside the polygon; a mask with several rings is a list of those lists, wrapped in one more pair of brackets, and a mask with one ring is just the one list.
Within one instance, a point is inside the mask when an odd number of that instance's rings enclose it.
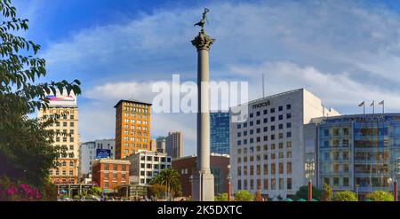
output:
{"label": "large white Macy's building with grid of square windows", "polygon": [[[237,114],[238,109],[247,110]],[[307,184],[308,143],[304,124],[339,115],[308,90],[291,90],[230,109],[230,164],[233,192],[248,190],[282,199]],[[312,146],[312,145],[310,145]]]}

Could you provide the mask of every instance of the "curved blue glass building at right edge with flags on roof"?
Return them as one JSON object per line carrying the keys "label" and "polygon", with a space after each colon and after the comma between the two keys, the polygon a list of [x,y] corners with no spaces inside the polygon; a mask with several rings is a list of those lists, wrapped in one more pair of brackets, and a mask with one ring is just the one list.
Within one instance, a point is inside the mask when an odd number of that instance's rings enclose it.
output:
{"label": "curved blue glass building at right edge with flags on roof", "polygon": [[357,114],[324,119],[318,125],[319,185],[353,190],[360,197],[392,191],[400,157],[400,113]]}

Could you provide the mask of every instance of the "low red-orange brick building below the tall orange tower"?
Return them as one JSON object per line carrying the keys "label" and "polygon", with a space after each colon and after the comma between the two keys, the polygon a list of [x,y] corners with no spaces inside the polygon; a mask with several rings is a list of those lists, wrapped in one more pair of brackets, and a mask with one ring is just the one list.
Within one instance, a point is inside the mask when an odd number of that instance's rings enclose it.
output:
{"label": "low red-orange brick building below the tall orange tower", "polygon": [[92,164],[92,181],[109,190],[128,185],[130,164],[129,160],[95,160]]}

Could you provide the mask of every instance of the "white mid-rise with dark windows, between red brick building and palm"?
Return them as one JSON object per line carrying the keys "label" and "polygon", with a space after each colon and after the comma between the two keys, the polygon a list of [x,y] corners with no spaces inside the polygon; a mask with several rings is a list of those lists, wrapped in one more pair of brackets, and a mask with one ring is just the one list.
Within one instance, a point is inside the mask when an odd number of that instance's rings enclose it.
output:
{"label": "white mid-rise with dark windows, between red brick building and palm", "polygon": [[172,158],[166,153],[154,153],[145,150],[139,150],[126,157],[131,165],[129,166],[130,176],[139,176],[139,184],[146,185],[150,183],[151,178],[156,176],[164,168],[171,168]]}

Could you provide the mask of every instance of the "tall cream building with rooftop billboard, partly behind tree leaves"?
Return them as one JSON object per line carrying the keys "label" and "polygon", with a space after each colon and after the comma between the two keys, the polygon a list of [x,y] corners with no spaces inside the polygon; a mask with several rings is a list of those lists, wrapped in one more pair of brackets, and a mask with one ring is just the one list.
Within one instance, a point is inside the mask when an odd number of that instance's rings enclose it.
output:
{"label": "tall cream building with rooftop billboard, partly behind tree leaves", "polygon": [[76,105],[76,96],[49,95],[49,107],[41,108],[38,111],[40,121],[46,121],[49,118],[56,117],[57,121],[48,129],[54,131],[54,146],[60,146],[67,149],[66,154],[61,154],[58,160],[55,160],[57,168],[49,170],[50,181],[53,184],[76,184],[78,179],[78,107]]}

